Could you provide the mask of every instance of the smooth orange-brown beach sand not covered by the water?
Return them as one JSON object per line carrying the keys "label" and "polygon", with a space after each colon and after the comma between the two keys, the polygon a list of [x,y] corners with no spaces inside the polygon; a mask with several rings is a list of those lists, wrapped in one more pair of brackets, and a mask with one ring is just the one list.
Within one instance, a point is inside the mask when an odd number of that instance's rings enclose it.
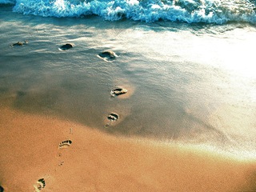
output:
{"label": "smooth orange-brown beach sand not covered by the water", "polygon": [[256,162],[117,138],[8,107],[1,107],[0,126],[0,184],[7,192],[33,191],[38,181],[38,191],[54,192],[256,190]]}

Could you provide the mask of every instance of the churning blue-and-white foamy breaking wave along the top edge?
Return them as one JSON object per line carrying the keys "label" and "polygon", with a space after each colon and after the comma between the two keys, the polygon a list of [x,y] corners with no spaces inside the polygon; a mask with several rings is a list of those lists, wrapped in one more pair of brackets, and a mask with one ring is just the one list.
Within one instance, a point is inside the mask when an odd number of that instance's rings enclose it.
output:
{"label": "churning blue-and-white foamy breaking wave along the top edge", "polygon": [[14,11],[58,18],[96,14],[111,21],[256,23],[254,0],[17,0]]}

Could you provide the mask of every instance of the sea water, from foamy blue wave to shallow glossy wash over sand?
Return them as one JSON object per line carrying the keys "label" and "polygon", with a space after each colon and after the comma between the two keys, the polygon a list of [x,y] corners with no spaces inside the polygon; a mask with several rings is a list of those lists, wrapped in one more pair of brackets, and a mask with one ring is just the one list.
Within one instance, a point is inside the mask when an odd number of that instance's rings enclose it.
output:
{"label": "sea water, from foamy blue wave to shallow glossy wash over sand", "polygon": [[[255,11],[250,0],[0,0],[1,105],[255,158]],[[128,93],[111,96],[116,86]]]}

